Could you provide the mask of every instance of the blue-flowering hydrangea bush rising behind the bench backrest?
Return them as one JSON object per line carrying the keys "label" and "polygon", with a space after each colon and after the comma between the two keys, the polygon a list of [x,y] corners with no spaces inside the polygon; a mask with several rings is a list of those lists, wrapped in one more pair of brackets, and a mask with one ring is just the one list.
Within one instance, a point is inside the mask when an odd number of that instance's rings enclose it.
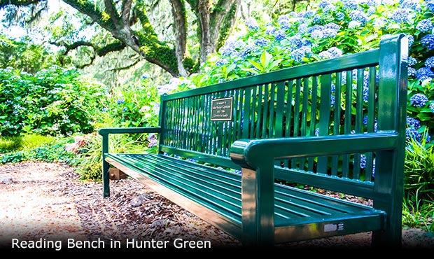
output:
{"label": "blue-flowering hydrangea bush rising behind the bench backrest", "polygon": [[379,47],[382,37],[409,39],[407,137],[434,134],[434,0],[324,0],[310,10],[275,20],[248,18],[232,38],[183,80],[179,89],[202,87]]}

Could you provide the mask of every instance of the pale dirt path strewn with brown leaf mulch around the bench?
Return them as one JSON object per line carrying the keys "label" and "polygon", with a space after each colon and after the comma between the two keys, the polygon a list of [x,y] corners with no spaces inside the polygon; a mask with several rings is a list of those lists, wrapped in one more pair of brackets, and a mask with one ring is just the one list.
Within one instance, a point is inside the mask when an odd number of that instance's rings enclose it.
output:
{"label": "pale dirt path strewn with brown leaf mulch around the bench", "polygon": [[[78,181],[73,169],[66,165],[45,162],[1,165],[0,248],[12,248],[13,239],[41,240],[45,244],[62,241],[63,250],[67,239],[77,244],[101,240],[104,248],[110,247],[111,241],[119,241],[125,248],[127,239],[154,240],[155,246],[157,241],[162,245],[167,242],[171,247],[174,239],[179,238],[197,243],[208,240],[212,248],[240,247],[237,240],[137,181],[112,181],[111,193],[111,197],[103,199],[101,183]],[[403,248],[434,248],[434,237],[422,230],[402,233]],[[369,248],[370,233],[279,247]]]}

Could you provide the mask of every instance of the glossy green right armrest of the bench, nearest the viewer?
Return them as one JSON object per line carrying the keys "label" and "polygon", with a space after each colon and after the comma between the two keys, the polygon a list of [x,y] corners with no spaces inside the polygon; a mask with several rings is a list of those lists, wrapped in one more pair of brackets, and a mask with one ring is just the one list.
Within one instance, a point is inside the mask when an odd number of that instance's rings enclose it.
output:
{"label": "glossy green right armrest of the bench, nearest the viewer", "polygon": [[230,158],[244,168],[256,169],[264,161],[340,155],[393,149],[398,144],[396,132],[351,134],[325,137],[275,139],[239,139],[230,148]]}

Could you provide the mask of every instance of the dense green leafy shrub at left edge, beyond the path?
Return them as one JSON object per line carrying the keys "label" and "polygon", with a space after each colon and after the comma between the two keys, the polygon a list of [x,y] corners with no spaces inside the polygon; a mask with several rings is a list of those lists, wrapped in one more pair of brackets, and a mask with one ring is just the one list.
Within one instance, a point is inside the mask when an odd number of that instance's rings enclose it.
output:
{"label": "dense green leafy shrub at left edge, beyond the path", "polygon": [[52,66],[32,76],[0,69],[0,135],[22,132],[72,135],[92,132],[101,97],[100,85],[74,69]]}

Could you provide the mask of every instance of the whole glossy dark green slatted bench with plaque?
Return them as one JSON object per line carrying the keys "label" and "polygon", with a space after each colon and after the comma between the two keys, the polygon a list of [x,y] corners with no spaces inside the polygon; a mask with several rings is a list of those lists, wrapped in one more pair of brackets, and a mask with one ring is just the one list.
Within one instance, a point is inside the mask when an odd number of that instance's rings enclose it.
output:
{"label": "whole glossy dark green slatted bench with plaque", "polygon": [[[159,127],[99,130],[104,197],[111,164],[246,246],[370,231],[372,246],[400,246],[407,55],[398,35],[377,50],[162,95]],[[109,153],[109,134],[133,133],[158,134],[158,154]]]}

